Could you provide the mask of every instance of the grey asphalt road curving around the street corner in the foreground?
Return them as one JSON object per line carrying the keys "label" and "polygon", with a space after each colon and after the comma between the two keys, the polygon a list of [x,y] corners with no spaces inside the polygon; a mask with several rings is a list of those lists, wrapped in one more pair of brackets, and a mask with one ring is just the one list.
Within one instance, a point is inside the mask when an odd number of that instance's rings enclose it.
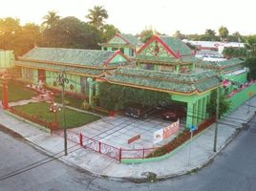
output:
{"label": "grey asphalt road curving around the street corner in the foreground", "polygon": [[[46,156],[0,128],[0,191],[12,190],[256,190],[256,117],[214,161],[193,175],[156,183],[134,183],[94,177],[58,160],[3,180],[3,176]],[[170,164],[171,165],[171,164]],[[11,174],[12,175],[12,174]]]}

